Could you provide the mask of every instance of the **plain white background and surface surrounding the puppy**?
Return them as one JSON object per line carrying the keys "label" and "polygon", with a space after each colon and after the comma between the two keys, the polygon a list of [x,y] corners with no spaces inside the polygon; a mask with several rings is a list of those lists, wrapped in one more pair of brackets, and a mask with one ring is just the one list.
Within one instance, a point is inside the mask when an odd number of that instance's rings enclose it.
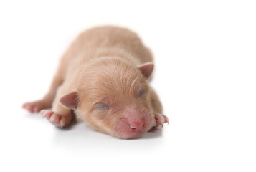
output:
{"label": "plain white background and surface surrounding the puppy", "polygon": [[[82,30],[115,24],[151,47],[169,125],[119,140],[60,130],[39,99]],[[0,1],[0,171],[256,171],[255,1]]]}

